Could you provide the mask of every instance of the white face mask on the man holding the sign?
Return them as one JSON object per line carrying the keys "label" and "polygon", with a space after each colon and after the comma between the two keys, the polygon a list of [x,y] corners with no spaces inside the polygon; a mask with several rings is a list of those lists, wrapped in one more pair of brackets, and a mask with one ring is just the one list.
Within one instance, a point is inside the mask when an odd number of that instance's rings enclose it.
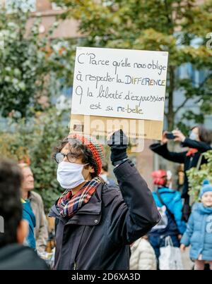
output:
{"label": "white face mask on the man holding the sign", "polygon": [[57,181],[61,187],[65,190],[71,190],[84,183],[86,180],[83,178],[82,171],[86,165],[61,161],[57,168]]}

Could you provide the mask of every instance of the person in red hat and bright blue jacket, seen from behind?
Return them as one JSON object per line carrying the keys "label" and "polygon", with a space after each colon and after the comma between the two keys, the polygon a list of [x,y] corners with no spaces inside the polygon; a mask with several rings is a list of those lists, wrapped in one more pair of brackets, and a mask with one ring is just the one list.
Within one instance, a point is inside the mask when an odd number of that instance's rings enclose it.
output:
{"label": "person in red hat and bright blue jacket, seen from behind", "polygon": [[160,222],[148,234],[148,240],[155,250],[157,259],[160,257],[160,247],[165,246],[165,237],[170,236],[174,247],[179,247],[179,240],[186,230],[182,221],[182,199],[179,192],[172,190],[172,173],[170,171],[153,171],[153,183],[157,190],[153,198],[161,214]]}

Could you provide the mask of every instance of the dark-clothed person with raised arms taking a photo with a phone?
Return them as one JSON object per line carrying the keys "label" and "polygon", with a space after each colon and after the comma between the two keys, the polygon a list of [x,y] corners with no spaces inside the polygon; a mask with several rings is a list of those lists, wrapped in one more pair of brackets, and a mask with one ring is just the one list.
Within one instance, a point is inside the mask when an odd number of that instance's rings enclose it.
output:
{"label": "dark-clothed person with raised arms taking a photo with a phone", "polygon": [[182,147],[188,147],[189,149],[184,152],[170,152],[167,148],[168,139],[166,131],[163,132],[161,143],[151,144],[150,149],[169,161],[184,164],[184,186],[182,190],[184,208],[182,217],[184,221],[188,221],[190,207],[187,171],[190,168],[199,167],[201,164],[206,163],[206,159],[202,154],[211,149],[211,132],[206,130],[204,126],[199,125],[192,128],[189,137],[185,137],[179,130],[173,130],[172,134],[175,136],[175,142],[181,142]]}

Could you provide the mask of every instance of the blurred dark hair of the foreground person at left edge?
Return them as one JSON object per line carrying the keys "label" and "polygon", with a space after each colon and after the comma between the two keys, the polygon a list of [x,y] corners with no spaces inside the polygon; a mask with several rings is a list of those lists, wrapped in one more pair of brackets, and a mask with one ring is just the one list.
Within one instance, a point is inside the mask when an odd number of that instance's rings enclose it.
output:
{"label": "blurred dark hair of the foreground person at left edge", "polygon": [[20,202],[21,182],[21,171],[16,163],[0,160],[0,216],[4,220],[0,247],[17,242],[17,229],[23,214]]}

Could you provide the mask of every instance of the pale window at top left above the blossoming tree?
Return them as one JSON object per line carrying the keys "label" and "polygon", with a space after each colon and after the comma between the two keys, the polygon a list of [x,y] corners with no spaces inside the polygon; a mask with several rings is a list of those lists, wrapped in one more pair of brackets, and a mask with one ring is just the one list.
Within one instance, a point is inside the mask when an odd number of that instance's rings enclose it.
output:
{"label": "pale window at top left above the blossoming tree", "polygon": [[36,11],[36,0],[5,0],[5,6],[8,13],[16,11],[16,8],[21,8],[23,11]]}

